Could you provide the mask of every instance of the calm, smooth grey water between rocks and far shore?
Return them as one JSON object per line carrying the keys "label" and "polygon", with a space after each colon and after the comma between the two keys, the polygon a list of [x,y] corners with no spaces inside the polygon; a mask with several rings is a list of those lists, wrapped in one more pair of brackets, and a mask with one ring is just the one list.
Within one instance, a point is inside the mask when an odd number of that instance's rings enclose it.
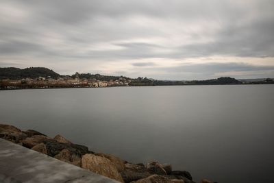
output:
{"label": "calm, smooth grey water between rocks and far shore", "polygon": [[0,121],[197,182],[274,182],[274,85],[7,90]]}

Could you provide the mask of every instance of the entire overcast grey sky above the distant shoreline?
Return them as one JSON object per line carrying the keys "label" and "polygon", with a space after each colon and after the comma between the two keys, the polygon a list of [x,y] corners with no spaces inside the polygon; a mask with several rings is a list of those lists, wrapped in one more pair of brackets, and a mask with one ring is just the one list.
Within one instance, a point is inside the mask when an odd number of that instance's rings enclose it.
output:
{"label": "entire overcast grey sky above the distant shoreline", "polygon": [[274,77],[273,0],[0,0],[0,67]]}

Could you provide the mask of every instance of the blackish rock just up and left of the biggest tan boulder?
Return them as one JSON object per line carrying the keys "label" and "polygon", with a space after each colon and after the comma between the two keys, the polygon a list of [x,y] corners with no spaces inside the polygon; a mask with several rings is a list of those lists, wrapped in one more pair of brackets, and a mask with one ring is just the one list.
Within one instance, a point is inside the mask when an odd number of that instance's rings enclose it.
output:
{"label": "blackish rock just up and left of the biggest tan boulder", "polygon": [[92,151],[89,151],[88,147],[84,145],[58,143],[57,141],[50,139],[43,141],[43,143],[45,143],[47,147],[47,154],[52,157],[59,154],[63,149],[68,149],[74,160],[81,159],[84,154],[93,153]]}

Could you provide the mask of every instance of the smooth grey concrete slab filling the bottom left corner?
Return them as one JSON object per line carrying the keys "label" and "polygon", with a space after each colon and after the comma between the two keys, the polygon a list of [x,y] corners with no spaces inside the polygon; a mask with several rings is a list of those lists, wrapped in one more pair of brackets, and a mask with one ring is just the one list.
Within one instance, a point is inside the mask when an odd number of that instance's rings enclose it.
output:
{"label": "smooth grey concrete slab filling the bottom left corner", "polygon": [[0,183],[118,183],[0,138]]}

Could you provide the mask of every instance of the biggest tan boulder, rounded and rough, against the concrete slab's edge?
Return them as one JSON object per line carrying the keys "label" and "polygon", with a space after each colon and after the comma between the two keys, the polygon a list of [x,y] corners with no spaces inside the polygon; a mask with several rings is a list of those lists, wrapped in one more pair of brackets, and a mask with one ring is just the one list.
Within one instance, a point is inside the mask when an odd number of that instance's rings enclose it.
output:
{"label": "biggest tan boulder, rounded and rough, against the concrete slab's edge", "polygon": [[88,169],[92,172],[99,173],[108,178],[123,182],[123,178],[116,169],[115,165],[101,156],[95,156],[93,154],[85,154],[82,157],[82,168]]}

